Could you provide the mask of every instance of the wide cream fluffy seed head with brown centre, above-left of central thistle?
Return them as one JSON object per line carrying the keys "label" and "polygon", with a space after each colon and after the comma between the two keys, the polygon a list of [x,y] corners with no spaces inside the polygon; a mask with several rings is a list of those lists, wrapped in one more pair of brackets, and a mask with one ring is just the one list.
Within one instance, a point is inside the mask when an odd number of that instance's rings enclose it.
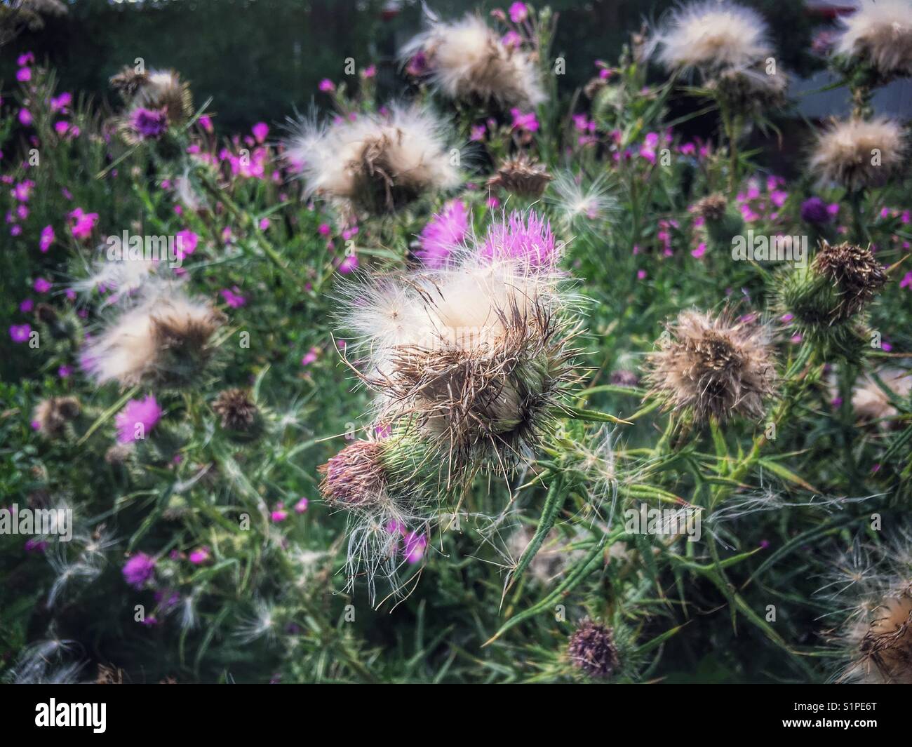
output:
{"label": "wide cream fluffy seed head with brown centre, above-left of central thistle", "polygon": [[446,148],[446,127],[428,109],[391,108],[328,126],[301,125],[285,158],[301,172],[307,194],[368,213],[392,213],[425,193],[460,182]]}

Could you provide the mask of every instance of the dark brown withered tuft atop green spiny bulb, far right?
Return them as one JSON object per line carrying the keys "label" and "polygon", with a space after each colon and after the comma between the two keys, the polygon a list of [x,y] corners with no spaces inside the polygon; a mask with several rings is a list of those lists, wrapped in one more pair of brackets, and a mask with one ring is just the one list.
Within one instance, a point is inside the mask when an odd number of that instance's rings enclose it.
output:
{"label": "dark brown withered tuft atop green spiny bulb, far right", "polygon": [[839,296],[833,311],[837,320],[855,316],[886,285],[884,266],[870,247],[824,241],[814,256],[813,269],[834,284]]}

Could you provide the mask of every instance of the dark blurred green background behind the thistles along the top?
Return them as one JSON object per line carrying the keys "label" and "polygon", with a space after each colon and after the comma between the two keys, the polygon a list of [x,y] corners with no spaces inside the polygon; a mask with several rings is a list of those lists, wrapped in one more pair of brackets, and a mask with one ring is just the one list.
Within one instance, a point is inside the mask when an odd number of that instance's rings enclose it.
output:
{"label": "dark blurred green background behind the thistles along the top", "polygon": [[[770,22],[786,68],[814,70],[808,49],[814,26],[825,19],[801,0],[746,0]],[[421,26],[413,0],[73,0],[68,13],[47,16],[41,30],[26,31],[4,47],[0,80],[14,80],[16,56],[31,50],[58,70],[63,89],[113,100],[108,78],[136,57],[147,67],[174,67],[198,98],[212,97],[223,131],[247,130],[257,121],[281,121],[295,109],[321,102],[322,78],[344,78],[347,57],[358,68],[376,63],[381,92],[399,94],[396,51]],[[429,3],[441,16],[508,2],[447,0]],[[544,4],[538,4],[544,5]],[[631,33],[658,18],[671,0],[552,0],[560,15],[554,55],[565,57],[561,91],[572,95],[595,73],[594,60],[614,60]],[[199,101],[202,103],[202,100]],[[708,126],[704,122],[703,127]]]}

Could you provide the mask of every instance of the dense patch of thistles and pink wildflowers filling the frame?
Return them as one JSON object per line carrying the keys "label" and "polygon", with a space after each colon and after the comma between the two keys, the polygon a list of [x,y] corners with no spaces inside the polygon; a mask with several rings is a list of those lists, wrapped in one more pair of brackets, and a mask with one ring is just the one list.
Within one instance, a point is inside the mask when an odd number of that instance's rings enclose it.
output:
{"label": "dense patch of thistles and pink wildflowers filling the frame", "polygon": [[[164,68],[106,70],[106,121],[23,51],[0,678],[907,681],[907,138],[865,103],[899,5],[841,24],[863,106],[782,128],[806,174],[740,150],[795,43],[731,3],[579,90],[547,8],[429,17],[290,132]],[[58,508],[69,542],[11,531]]]}

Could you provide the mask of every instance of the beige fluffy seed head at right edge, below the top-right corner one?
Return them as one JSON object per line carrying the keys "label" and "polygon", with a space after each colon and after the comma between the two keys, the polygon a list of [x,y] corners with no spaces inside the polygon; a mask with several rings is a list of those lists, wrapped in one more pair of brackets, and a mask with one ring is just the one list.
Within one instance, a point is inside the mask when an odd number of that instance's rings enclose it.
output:
{"label": "beige fluffy seed head at right edge, below the top-right corner one", "polygon": [[850,190],[879,186],[905,164],[906,140],[891,119],[846,119],[818,137],[810,165],[827,182]]}

